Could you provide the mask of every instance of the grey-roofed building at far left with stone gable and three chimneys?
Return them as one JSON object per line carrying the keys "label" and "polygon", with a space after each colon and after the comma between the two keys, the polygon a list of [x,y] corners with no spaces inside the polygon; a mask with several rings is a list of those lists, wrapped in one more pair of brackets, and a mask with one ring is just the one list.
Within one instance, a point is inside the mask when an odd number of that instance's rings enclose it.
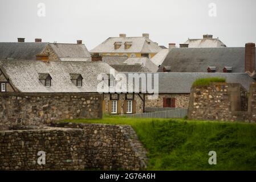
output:
{"label": "grey-roofed building at far left with stone gable and three chimneys", "polygon": [[42,39],[25,42],[18,38],[16,43],[0,43],[2,60],[58,60],[58,61],[91,61],[91,55],[82,40],[76,44],[46,43]]}

